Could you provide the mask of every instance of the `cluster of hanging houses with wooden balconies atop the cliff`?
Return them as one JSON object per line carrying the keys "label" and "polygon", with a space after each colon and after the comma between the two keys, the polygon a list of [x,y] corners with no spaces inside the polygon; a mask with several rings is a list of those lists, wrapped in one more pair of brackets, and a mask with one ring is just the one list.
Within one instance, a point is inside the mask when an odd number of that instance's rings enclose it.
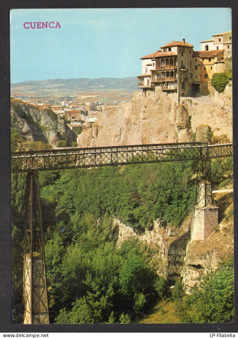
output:
{"label": "cluster of hanging houses with wooden balconies atop the cliff", "polygon": [[182,41],[171,41],[158,51],[142,56],[142,74],[138,87],[143,92],[155,90],[191,96],[194,92],[208,95],[212,90],[214,73],[226,70],[224,59],[232,56],[232,32],[214,34],[213,39],[201,41],[201,50],[194,51],[193,45]]}

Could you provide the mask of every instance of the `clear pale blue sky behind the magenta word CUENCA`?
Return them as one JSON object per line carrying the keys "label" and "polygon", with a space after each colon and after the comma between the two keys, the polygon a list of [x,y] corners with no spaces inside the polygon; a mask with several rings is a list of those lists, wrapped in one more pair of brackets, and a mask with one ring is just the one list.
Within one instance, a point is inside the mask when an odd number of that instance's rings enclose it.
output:
{"label": "clear pale blue sky behind the magenta word CUENCA", "polygon": [[[61,28],[23,27],[46,21]],[[185,39],[200,50],[200,41],[229,30],[230,8],[13,9],[10,79],[137,76],[140,57],[160,46]]]}

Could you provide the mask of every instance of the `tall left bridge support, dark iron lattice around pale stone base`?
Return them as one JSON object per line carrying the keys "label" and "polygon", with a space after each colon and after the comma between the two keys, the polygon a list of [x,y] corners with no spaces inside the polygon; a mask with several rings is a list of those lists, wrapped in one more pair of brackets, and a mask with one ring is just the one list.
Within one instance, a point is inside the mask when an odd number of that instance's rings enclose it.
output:
{"label": "tall left bridge support, dark iron lattice around pale stone base", "polygon": [[25,228],[23,277],[24,324],[48,324],[48,297],[41,222],[39,177],[27,174],[28,221]]}

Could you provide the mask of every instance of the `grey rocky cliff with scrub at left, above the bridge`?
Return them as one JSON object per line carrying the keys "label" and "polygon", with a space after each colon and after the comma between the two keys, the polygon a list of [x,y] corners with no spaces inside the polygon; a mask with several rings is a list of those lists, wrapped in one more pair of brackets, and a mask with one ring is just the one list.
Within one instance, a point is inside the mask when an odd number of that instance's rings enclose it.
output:
{"label": "grey rocky cliff with scrub at left, above the bridge", "polygon": [[11,102],[11,127],[27,141],[43,141],[57,145],[65,139],[68,144],[73,141],[73,132],[61,117],[50,109],[40,110],[30,104],[13,100]]}

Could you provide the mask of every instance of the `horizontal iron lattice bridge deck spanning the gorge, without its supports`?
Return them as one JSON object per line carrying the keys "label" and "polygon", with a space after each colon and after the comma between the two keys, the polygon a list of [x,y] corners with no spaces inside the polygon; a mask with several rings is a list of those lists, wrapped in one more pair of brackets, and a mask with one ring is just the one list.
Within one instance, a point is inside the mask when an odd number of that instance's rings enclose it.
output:
{"label": "horizontal iron lattice bridge deck spanning the gorge, without its supports", "polygon": [[201,142],[68,148],[13,152],[12,172],[59,170],[173,161],[209,160],[232,156],[232,144]]}

